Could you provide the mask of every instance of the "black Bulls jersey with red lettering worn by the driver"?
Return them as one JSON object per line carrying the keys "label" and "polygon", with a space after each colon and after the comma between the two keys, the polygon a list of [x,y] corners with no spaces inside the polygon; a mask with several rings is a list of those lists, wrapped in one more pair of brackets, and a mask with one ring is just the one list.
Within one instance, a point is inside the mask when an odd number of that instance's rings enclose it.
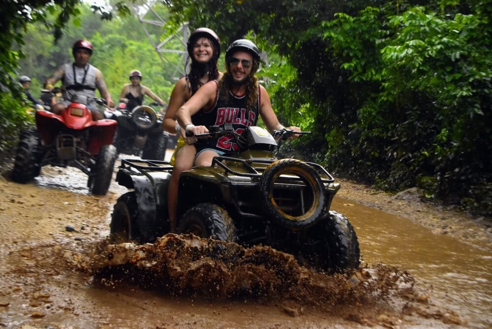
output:
{"label": "black Bulls jersey with red lettering worn by the driver", "polygon": [[[218,99],[218,95],[220,93],[219,91],[220,90],[217,88],[214,108],[208,112],[203,110],[199,112],[201,113],[201,124],[206,127],[210,127],[213,125],[232,123],[234,130],[239,134],[243,133],[246,127],[256,125],[258,122],[260,108],[259,86],[257,102],[251,110],[246,110],[247,94],[243,96],[236,96],[231,93],[229,100],[226,103]],[[195,121],[192,122],[196,125]],[[231,136],[221,136],[218,138],[199,140],[196,144],[197,149],[210,148],[226,153],[239,151],[237,143],[234,142],[234,138]]]}

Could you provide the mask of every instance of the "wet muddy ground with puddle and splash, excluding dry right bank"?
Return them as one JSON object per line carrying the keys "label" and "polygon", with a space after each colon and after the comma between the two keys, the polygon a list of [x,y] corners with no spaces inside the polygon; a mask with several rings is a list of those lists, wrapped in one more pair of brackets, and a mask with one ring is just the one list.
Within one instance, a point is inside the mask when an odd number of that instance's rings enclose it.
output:
{"label": "wet muddy ground with puddle and splash, excluding dry right bank", "polygon": [[[70,168],[43,168],[32,184],[0,181],[1,327],[490,328],[492,323],[489,276],[483,274],[490,273],[490,253],[470,247],[461,255],[456,241],[382,211],[335,202],[358,233],[364,262],[361,269],[331,274],[305,268],[268,246],[244,248],[172,234],[153,244],[110,244],[112,206],[124,192],[113,181],[108,195],[89,195],[85,176]],[[469,261],[482,262],[481,268],[461,262],[444,267],[435,259],[445,253],[434,251],[439,247],[433,243],[458,258],[475,254]],[[469,295],[453,295],[459,286]],[[480,300],[470,298],[474,289]]]}

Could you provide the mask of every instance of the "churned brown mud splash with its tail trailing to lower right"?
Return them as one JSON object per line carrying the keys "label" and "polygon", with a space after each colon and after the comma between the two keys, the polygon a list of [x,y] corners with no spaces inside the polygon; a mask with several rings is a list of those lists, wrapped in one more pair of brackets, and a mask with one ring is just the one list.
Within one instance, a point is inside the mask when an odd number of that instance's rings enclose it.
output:
{"label": "churned brown mud splash with its tail trailing to lower right", "polygon": [[328,274],[268,246],[244,248],[191,235],[168,234],[144,245],[102,242],[79,269],[111,289],[127,283],[185,298],[280,304],[293,317],[315,309],[366,326],[392,328],[414,314],[462,323],[458,314],[432,308],[431,293],[397,267],[366,265]]}

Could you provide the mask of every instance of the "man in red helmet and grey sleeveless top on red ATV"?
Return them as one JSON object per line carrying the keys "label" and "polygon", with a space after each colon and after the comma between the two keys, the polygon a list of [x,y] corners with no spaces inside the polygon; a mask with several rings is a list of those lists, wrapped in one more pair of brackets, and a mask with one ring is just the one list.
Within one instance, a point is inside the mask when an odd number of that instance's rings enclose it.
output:
{"label": "man in red helmet and grey sleeveless top on red ATV", "polygon": [[[111,99],[104,77],[101,71],[91,64],[89,60],[92,56],[92,44],[87,40],[79,40],[72,47],[72,54],[75,59],[73,63],[62,65],[56,70],[53,75],[45,82],[45,88],[53,89],[53,85],[61,80],[62,88],[78,95],[87,96],[92,101],[87,105],[92,113],[93,120],[104,119],[102,111],[97,108],[95,101],[95,90],[99,90],[101,97],[104,98],[109,107],[114,107],[115,103]],[[60,114],[64,108],[70,104],[70,100],[66,97],[62,103],[57,103],[53,106],[53,112]]]}

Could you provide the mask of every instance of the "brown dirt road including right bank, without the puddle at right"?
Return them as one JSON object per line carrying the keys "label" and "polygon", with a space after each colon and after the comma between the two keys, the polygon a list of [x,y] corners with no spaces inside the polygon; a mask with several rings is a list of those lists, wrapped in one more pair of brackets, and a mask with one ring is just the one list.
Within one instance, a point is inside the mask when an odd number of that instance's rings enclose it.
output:
{"label": "brown dirt road including right bank, without the puddle at right", "polygon": [[[193,275],[181,290],[169,287],[155,271],[138,273],[137,278],[134,271],[129,275],[131,269],[122,268],[94,276],[94,257],[109,234],[112,206],[126,189],[112,182],[108,195],[94,197],[85,184],[84,175],[70,168],[45,167],[41,177],[24,185],[1,178],[1,327],[487,328],[491,323],[487,317],[470,323],[434,303],[427,285],[391,264],[364,264],[349,275],[328,276],[301,268],[288,255],[269,248],[255,251],[267,265],[249,268],[248,281],[229,286],[223,295],[218,288],[193,283]],[[450,235],[490,251],[488,219],[476,220],[423,204],[412,195],[395,198],[348,181],[339,195],[348,200],[342,205],[360,202],[413,218],[436,236]],[[168,264],[176,261],[163,257]],[[213,283],[216,264],[205,263],[199,268],[208,269],[202,274]],[[276,264],[276,270],[268,270],[268,264]]]}

